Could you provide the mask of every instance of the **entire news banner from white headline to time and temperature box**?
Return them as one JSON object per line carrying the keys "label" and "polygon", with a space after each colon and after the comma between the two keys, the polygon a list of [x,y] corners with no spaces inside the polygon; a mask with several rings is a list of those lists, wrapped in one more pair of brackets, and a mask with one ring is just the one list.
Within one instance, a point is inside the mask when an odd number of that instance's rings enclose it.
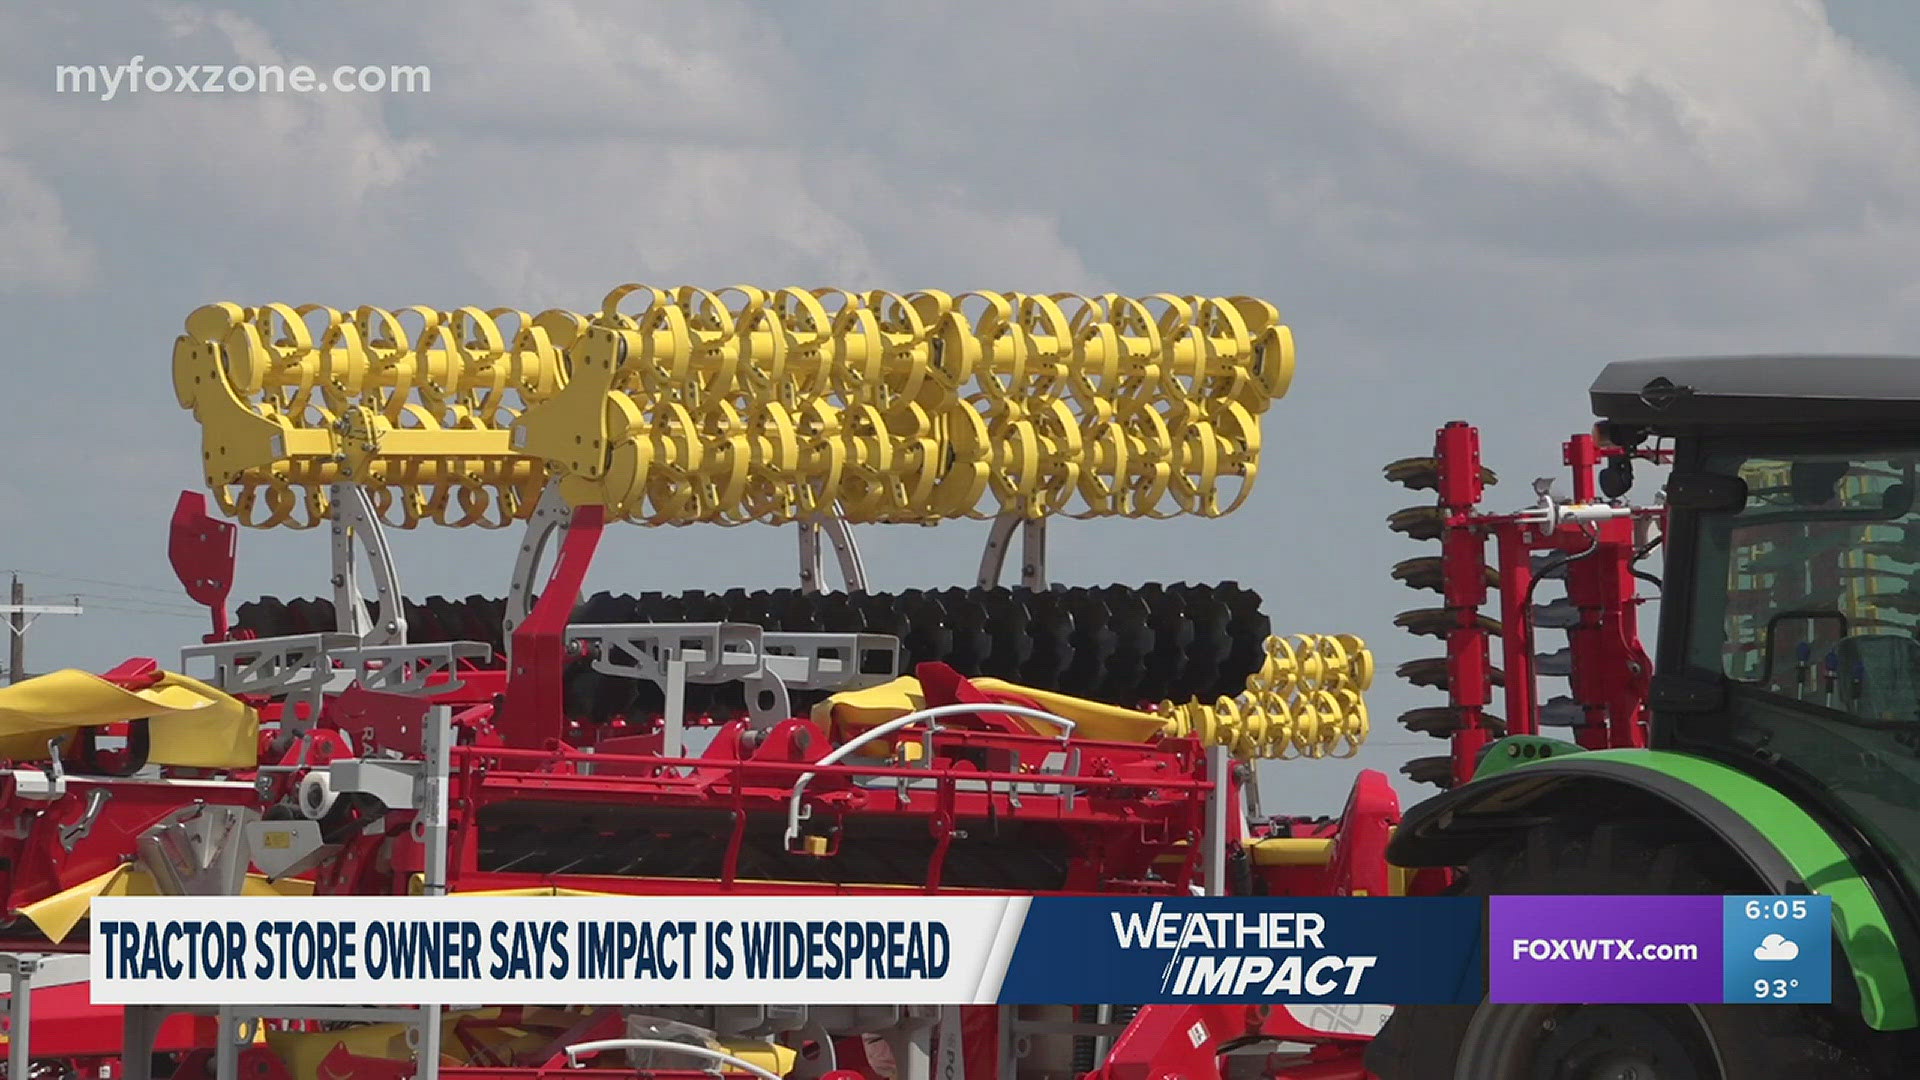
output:
{"label": "entire news banner from white headline to time and temperature box", "polygon": [[1832,995],[1818,896],[98,897],[90,926],[96,1005]]}

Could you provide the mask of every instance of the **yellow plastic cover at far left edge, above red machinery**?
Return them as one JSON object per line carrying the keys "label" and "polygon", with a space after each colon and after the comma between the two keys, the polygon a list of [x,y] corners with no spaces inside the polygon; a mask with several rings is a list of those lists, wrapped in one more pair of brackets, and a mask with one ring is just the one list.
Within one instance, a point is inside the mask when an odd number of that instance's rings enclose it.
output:
{"label": "yellow plastic cover at far left edge, above red machinery", "polygon": [[171,671],[144,690],[127,690],[75,669],[0,688],[0,759],[46,761],[52,738],[142,719],[148,721],[148,761],[154,765],[259,765],[259,715],[238,698]]}

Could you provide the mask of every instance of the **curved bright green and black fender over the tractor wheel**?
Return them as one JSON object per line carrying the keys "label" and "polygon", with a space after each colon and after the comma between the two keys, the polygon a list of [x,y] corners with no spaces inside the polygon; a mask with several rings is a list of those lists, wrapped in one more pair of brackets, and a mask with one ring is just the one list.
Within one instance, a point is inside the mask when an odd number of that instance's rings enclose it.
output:
{"label": "curved bright green and black fender over the tractor wheel", "polygon": [[[1622,805],[1692,821],[1776,894],[1832,897],[1860,1019],[1882,1032],[1920,1026],[1889,913],[1834,834],[1782,792],[1707,757],[1505,738],[1488,748],[1473,782],[1407,809],[1386,857],[1400,867],[1459,867],[1544,821]],[[1836,992],[1839,1003],[1843,988]]]}

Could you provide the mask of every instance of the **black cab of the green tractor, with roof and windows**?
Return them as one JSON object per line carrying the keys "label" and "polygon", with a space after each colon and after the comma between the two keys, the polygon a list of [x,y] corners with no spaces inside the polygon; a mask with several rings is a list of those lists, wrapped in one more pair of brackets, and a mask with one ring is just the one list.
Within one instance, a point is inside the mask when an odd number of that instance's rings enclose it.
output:
{"label": "black cab of the green tractor, with roof and windows", "polygon": [[1920,894],[1920,359],[1615,363],[1670,438],[1651,744],[1751,771]]}

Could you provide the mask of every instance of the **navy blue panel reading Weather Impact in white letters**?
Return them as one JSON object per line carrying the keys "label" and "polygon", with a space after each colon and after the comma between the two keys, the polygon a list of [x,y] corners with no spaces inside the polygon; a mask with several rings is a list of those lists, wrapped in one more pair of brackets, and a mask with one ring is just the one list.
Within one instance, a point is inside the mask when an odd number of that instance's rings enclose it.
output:
{"label": "navy blue panel reading Weather Impact in white letters", "polygon": [[1002,1005],[1478,1003],[1475,897],[1035,897]]}

